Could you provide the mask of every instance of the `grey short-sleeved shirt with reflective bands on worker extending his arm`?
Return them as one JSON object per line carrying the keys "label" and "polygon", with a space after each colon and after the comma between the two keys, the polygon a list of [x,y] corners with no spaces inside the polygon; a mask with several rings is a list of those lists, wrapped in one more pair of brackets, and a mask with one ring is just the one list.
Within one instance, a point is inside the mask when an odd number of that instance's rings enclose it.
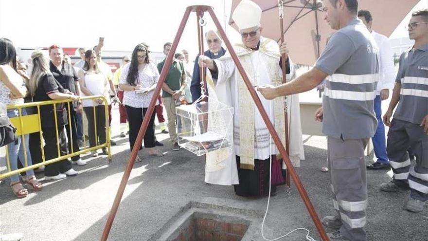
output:
{"label": "grey short-sleeved shirt with reflective bands on worker extending his arm", "polygon": [[361,20],[351,20],[333,34],[315,67],[329,74],[322,99],[322,132],[342,140],[373,137],[378,51]]}

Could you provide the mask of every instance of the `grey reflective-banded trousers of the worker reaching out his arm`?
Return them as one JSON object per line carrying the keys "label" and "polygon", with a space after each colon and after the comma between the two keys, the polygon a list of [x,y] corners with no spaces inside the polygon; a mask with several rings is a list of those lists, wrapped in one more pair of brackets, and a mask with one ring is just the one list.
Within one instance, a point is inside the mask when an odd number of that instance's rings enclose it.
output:
{"label": "grey reflective-banded trousers of the worker reaching out his arm", "polygon": [[351,241],[367,240],[364,230],[367,208],[364,148],[368,140],[327,137],[333,204],[342,221],[340,233]]}

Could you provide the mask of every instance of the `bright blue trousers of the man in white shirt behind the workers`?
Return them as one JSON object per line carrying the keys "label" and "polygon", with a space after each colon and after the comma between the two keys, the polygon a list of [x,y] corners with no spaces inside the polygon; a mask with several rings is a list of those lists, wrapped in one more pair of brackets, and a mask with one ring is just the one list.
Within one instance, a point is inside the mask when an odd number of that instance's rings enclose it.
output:
{"label": "bright blue trousers of the man in white shirt behind the workers", "polygon": [[373,147],[375,148],[375,156],[378,163],[388,163],[388,155],[386,152],[385,126],[382,121],[382,109],[380,95],[375,98],[375,114],[377,119],[377,128],[375,136],[372,137]]}

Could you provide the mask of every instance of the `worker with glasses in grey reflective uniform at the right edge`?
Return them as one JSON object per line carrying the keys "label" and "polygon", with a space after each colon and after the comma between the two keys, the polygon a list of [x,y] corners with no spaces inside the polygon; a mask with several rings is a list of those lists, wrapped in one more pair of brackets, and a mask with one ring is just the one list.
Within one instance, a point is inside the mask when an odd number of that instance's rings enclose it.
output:
{"label": "worker with glasses in grey reflective uniform at the right edge", "polygon": [[[383,116],[390,127],[387,151],[394,176],[380,189],[410,189],[405,208],[420,212],[428,200],[428,9],[413,12],[408,29],[415,42],[400,56],[391,103]],[[414,167],[410,167],[409,147],[416,157]]]}

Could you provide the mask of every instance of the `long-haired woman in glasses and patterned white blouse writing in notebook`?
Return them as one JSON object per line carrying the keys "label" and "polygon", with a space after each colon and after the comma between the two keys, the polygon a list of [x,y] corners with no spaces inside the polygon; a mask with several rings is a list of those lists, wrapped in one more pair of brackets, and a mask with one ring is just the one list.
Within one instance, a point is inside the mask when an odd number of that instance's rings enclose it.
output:
{"label": "long-haired woman in glasses and patterned white blouse writing in notebook", "polygon": [[[159,80],[159,72],[155,64],[150,61],[147,48],[144,44],[138,44],[132,52],[131,62],[124,66],[119,88],[124,91],[123,105],[129,123],[129,145],[132,149],[137,139],[143,118],[149,107],[153,91]],[[158,103],[156,103],[158,104]],[[155,148],[155,112],[150,118],[149,125],[144,135],[144,147],[151,156],[163,156],[163,153]],[[140,147],[142,149],[142,147]],[[137,156],[136,162],[141,162]]]}

